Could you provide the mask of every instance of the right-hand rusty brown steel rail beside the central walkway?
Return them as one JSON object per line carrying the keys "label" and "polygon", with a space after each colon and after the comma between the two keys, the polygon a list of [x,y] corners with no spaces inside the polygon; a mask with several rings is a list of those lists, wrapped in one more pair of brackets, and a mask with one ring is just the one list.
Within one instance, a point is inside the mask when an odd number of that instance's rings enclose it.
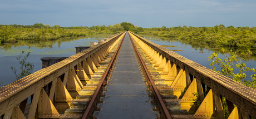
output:
{"label": "right-hand rusty brown steel rail beside the central walkway", "polygon": [[149,81],[150,81],[150,83],[151,83],[150,86],[152,87],[153,91],[155,92],[156,99],[157,99],[157,101],[159,102],[159,106],[161,107],[161,110],[163,111],[164,116],[165,116],[165,118],[169,118],[169,119],[170,119],[170,118],[171,118],[171,115],[170,115],[170,113],[169,113],[167,107],[165,106],[164,101],[163,101],[163,98],[161,97],[159,91],[157,90],[157,87],[155,86],[155,83],[154,83],[154,81],[152,80],[152,77],[150,76],[149,71],[147,71],[147,67],[146,67],[146,65],[145,65],[145,62],[143,61],[142,57],[140,56],[140,53],[139,53],[139,51],[137,50],[137,48],[136,48],[136,46],[135,46],[135,43],[134,43],[134,41],[132,40],[130,34],[129,34],[129,37],[130,37],[130,40],[131,40],[131,42],[132,42],[132,46],[134,47],[134,50],[136,51],[137,56],[139,56],[140,62],[141,62],[142,66],[143,66],[143,68],[144,68],[144,70],[145,70],[145,72],[146,72],[146,76],[147,76],[147,78],[149,78]]}

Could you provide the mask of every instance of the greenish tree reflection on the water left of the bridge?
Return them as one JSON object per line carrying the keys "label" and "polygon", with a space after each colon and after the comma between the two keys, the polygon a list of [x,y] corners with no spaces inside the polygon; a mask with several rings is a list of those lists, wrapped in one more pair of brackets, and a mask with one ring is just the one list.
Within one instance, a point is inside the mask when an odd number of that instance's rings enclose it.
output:
{"label": "greenish tree reflection on the water left of the bridge", "polygon": [[95,34],[91,36],[81,36],[81,37],[67,37],[67,38],[59,38],[56,40],[17,40],[17,43],[0,43],[0,48],[3,50],[12,49],[12,47],[22,47],[27,46],[30,47],[36,47],[36,48],[51,48],[53,44],[57,43],[58,48],[60,48],[62,42],[71,42],[76,41],[78,39],[82,38],[106,38],[111,36],[111,34]]}

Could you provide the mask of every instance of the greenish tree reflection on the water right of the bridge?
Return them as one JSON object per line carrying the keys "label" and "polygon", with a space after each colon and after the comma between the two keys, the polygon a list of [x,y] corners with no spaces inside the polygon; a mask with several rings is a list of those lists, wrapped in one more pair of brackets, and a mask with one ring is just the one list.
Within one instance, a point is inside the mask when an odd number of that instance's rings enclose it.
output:
{"label": "greenish tree reflection on the water right of the bridge", "polygon": [[[144,37],[146,39],[149,39],[149,35],[147,34],[139,34],[141,37]],[[154,38],[154,40],[156,41],[163,41],[163,42],[174,42],[174,41],[179,41],[181,43],[184,44],[189,44],[192,48],[194,48],[195,50],[200,50],[200,52],[204,52],[205,49],[207,49],[207,51],[213,51],[215,53],[221,53],[221,48],[224,48],[225,51],[230,51],[232,50],[233,52],[237,52],[238,57],[240,58],[240,54],[242,52],[247,52],[247,48],[237,48],[237,47],[227,47],[227,46],[217,46],[217,45],[213,45],[213,44],[205,44],[205,43],[201,43],[201,42],[186,42],[184,40],[178,40],[178,39],[171,39],[171,38],[167,38],[167,37],[159,37],[159,36],[151,36],[151,39]],[[252,51],[252,56],[250,56],[248,59],[245,60],[256,60],[256,49],[250,49],[250,51]]]}

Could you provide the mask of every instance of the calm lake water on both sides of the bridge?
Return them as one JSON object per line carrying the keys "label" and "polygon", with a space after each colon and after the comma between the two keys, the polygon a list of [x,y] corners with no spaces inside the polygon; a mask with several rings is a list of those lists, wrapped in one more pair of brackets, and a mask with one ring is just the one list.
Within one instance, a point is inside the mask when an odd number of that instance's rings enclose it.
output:
{"label": "calm lake water on both sides of the bridge", "polygon": [[[111,34],[98,34],[88,37],[75,37],[75,38],[62,38],[56,41],[19,41],[18,43],[6,43],[0,46],[0,84],[8,85],[16,80],[11,67],[19,68],[16,57],[25,51],[31,52],[27,61],[35,65],[33,72],[41,70],[42,57],[69,57],[76,53],[75,47],[77,46],[90,46],[90,42],[98,42],[97,39],[102,39],[111,36]],[[147,35],[141,35],[142,37],[149,39]],[[176,47],[165,47],[168,49],[179,49],[181,51],[174,51],[181,56],[184,56],[194,62],[199,63],[207,68],[211,68],[209,65],[211,61],[208,61],[208,57],[211,53],[218,53],[218,56],[224,58],[224,55],[220,53],[220,47],[216,46],[205,46],[200,43],[188,44],[182,41],[171,40],[168,38],[160,38],[151,36],[151,42],[159,45],[176,46]],[[225,48],[230,49],[230,48]],[[237,50],[239,52],[239,49]],[[256,52],[255,50],[253,52]],[[254,53],[255,54],[255,53]],[[249,58],[244,63],[250,67],[256,67],[256,56]],[[254,72],[247,73],[247,80],[250,80],[250,75]]]}

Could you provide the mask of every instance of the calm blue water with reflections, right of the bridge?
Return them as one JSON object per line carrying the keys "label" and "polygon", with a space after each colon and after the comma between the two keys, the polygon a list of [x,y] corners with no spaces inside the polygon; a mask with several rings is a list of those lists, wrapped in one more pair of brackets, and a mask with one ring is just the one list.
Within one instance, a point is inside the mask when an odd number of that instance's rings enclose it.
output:
{"label": "calm blue water with reflections, right of the bridge", "polygon": [[[146,39],[149,40],[149,36],[147,35],[140,35]],[[201,43],[193,43],[189,44],[186,42],[181,42],[178,40],[171,40],[170,38],[161,38],[156,36],[151,36],[151,42],[154,42],[159,45],[166,45],[166,46],[176,46],[176,47],[165,47],[167,49],[179,49],[181,51],[173,51],[175,53],[180,54],[181,56],[190,59],[191,61],[197,62],[202,66],[205,66],[207,68],[212,68],[210,63],[212,61],[208,61],[208,57],[210,57],[211,53],[218,53],[218,56],[220,58],[225,58],[224,54],[221,53],[221,47],[220,46],[208,46],[208,45],[202,45]],[[235,49],[231,47],[224,47],[226,51],[233,49],[234,52],[245,52],[247,49]],[[253,56],[248,58],[246,61],[243,61],[245,65],[249,68],[256,68],[256,50],[252,50]],[[217,67],[217,66],[216,66]],[[235,68],[235,67],[234,67]],[[219,70],[216,69],[216,70]],[[235,71],[235,73],[238,73],[238,70]],[[251,75],[255,74],[255,72],[247,72],[247,78],[246,80],[251,81]]]}

